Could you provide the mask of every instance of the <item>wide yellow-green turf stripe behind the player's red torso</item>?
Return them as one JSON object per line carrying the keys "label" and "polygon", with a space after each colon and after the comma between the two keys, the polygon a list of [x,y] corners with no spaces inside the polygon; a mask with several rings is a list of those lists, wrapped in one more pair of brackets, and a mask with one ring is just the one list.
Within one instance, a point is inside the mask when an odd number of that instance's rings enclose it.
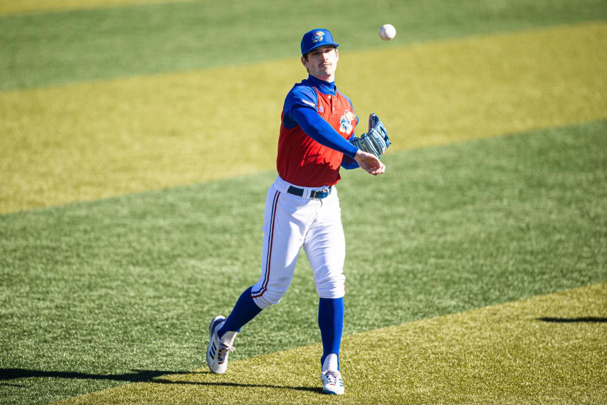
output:
{"label": "wide yellow-green turf stripe behind the player's red torso", "polygon": [[[607,117],[606,41],[595,22],[342,52],[337,83],[396,150],[562,126]],[[0,213],[271,169],[304,76],[294,58],[0,93]]]}

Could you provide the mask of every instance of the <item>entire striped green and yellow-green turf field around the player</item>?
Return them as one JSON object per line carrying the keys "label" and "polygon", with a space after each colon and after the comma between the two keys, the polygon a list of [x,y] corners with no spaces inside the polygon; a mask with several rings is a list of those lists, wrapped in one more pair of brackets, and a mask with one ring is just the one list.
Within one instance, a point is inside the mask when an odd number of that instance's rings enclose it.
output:
{"label": "entire striped green and yellow-green turf field around the player", "polygon": [[[605,2],[309,7],[0,5],[0,403],[607,403]],[[338,186],[344,398],[307,260],[228,374],[203,359],[259,276],[314,26],[393,140]]]}

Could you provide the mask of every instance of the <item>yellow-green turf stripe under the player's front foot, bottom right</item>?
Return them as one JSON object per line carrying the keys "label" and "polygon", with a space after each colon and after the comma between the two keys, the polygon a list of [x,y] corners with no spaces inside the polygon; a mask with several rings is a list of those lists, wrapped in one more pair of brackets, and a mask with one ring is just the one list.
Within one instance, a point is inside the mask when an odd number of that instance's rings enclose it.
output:
{"label": "yellow-green turf stripe under the player's front foot, bottom right", "polygon": [[605,308],[601,283],[347,336],[341,398],[319,393],[311,345],[59,404],[601,404]]}

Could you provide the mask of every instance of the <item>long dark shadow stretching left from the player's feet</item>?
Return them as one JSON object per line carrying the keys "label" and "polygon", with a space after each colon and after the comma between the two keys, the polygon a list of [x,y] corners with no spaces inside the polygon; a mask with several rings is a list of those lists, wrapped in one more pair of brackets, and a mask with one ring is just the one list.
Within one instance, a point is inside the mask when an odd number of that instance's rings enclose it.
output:
{"label": "long dark shadow stretching left from the player's feet", "polygon": [[282,388],[297,391],[320,392],[322,389],[314,387],[290,387],[273,386],[265,384],[239,384],[221,381],[181,381],[178,379],[160,378],[169,375],[193,375],[210,374],[208,371],[170,371],[170,370],[132,370],[131,373],[123,374],[92,374],[69,371],[42,371],[27,369],[0,369],[0,386],[12,386],[25,388],[20,384],[5,383],[13,379],[22,378],[70,378],[70,379],[108,379],[110,381],[123,381],[124,383],[154,383],[154,384],[189,384],[197,386],[226,386],[226,387],[261,387],[261,388]]}

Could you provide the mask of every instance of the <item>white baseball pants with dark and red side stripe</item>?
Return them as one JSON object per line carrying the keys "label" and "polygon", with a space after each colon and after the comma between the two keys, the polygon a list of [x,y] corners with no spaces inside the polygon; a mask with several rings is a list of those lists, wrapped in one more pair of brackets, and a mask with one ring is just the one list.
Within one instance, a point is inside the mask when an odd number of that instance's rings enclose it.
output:
{"label": "white baseball pants with dark and red side stripe", "polygon": [[304,247],[320,298],[341,298],[345,294],[344,228],[337,189],[324,199],[287,192],[290,183],[280,176],[268,189],[263,221],[262,274],[251,296],[258,307],[278,304],[293,279],[297,256]]}

